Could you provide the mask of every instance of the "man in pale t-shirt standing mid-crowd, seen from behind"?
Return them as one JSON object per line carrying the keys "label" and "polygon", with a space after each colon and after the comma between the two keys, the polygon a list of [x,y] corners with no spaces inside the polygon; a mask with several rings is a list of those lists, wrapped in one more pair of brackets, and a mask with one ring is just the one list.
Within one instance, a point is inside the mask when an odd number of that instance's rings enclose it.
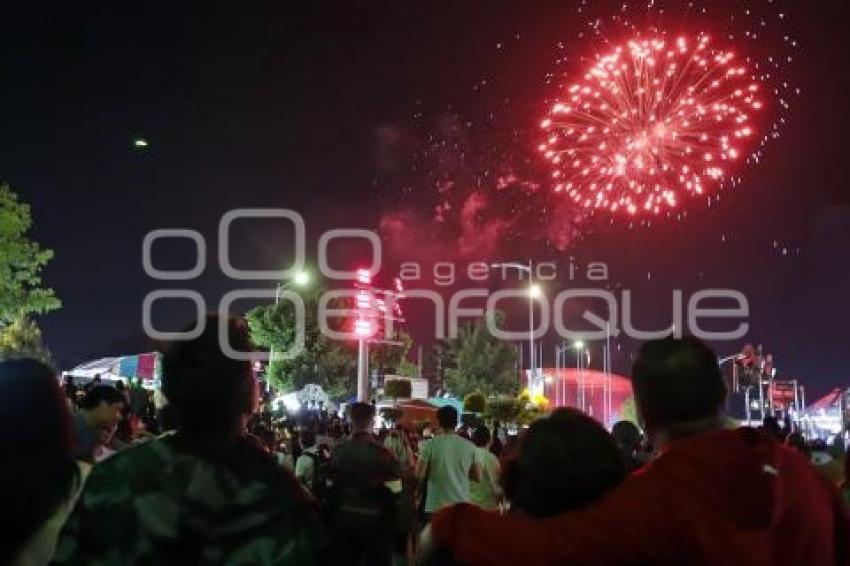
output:
{"label": "man in pale t-shirt standing mid-crowd, seen from behind", "polygon": [[447,505],[470,501],[470,480],[481,477],[475,445],[455,434],[457,417],[454,407],[441,407],[438,434],[419,455],[416,475],[420,484],[427,482],[426,518]]}

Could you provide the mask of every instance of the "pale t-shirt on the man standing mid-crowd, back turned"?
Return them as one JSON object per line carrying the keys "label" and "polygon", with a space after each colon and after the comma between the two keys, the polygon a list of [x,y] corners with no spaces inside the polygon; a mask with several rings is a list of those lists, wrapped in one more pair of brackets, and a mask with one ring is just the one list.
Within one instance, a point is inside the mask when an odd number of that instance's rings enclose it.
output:
{"label": "pale t-shirt on the man standing mid-crowd, back turned", "polygon": [[470,500],[469,472],[475,464],[474,444],[456,434],[441,434],[422,447],[419,458],[428,470],[426,513]]}

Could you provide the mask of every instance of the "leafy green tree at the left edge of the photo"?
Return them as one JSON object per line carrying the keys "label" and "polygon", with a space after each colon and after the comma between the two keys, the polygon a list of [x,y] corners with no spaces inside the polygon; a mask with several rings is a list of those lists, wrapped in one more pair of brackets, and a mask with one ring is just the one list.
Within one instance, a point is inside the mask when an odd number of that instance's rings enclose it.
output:
{"label": "leafy green tree at the left edge of the photo", "polygon": [[61,306],[53,289],[44,287],[41,270],[53,258],[29,239],[32,217],[8,185],[0,185],[0,348],[24,346],[44,352],[41,332],[29,317]]}

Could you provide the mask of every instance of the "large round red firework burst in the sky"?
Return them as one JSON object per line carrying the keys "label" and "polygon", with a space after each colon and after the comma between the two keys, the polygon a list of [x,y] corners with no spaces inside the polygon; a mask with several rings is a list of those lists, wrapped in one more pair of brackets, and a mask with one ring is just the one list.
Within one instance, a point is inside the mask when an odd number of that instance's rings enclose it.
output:
{"label": "large round red firework burst in the sky", "polygon": [[636,215],[710,195],[751,148],[759,82],[709,38],[640,38],[565,88],[541,126],[555,191]]}

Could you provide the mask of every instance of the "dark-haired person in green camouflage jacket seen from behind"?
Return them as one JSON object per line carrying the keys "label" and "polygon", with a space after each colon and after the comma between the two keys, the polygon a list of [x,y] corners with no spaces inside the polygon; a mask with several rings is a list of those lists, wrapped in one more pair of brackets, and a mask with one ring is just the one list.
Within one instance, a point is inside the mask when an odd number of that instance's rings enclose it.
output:
{"label": "dark-haired person in green camouflage jacket seen from behind", "polygon": [[[292,474],[245,435],[254,378],[218,348],[218,321],[163,362],[177,431],[98,463],[56,564],[315,564],[326,535]],[[229,322],[230,343],[249,347]],[[210,336],[211,335],[211,336]],[[241,342],[240,342],[241,340]]]}

